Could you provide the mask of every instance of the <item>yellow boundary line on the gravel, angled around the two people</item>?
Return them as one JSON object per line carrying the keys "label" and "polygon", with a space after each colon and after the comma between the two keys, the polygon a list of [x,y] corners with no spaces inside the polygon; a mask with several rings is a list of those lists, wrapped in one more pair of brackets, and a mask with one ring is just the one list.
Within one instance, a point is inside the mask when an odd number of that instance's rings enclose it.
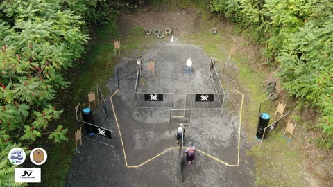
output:
{"label": "yellow boundary line on the gravel, angled around the two people", "polygon": [[[156,159],[157,157],[160,157],[162,154],[168,152],[169,150],[173,150],[173,149],[179,149],[179,147],[172,147],[172,148],[169,148],[167,150],[164,150],[164,152],[161,152],[160,154],[157,154],[155,157],[152,157],[151,159],[148,159],[142,163],[140,163],[139,165],[137,166],[128,166],[128,162],[127,162],[127,158],[126,158],[126,151],[125,151],[125,146],[123,145],[123,137],[121,136],[121,131],[120,131],[120,127],[119,127],[119,123],[118,123],[118,119],[117,119],[117,115],[116,115],[116,111],[114,109],[114,105],[113,105],[113,102],[112,102],[112,97],[117,94],[117,92],[119,91],[119,89],[117,91],[114,92],[114,94],[112,94],[112,96],[110,97],[110,101],[111,101],[111,105],[112,105],[112,110],[113,110],[113,114],[114,114],[114,119],[115,119],[115,122],[116,122],[116,125],[117,125],[117,128],[118,128],[118,132],[119,132],[119,136],[120,136],[120,141],[121,141],[121,146],[123,148],[123,157],[125,159],[125,163],[126,163],[126,167],[127,168],[139,168],[140,166],[143,166],[144,164],[150,162],[150,161],[153,161],[153,159]],[[241,94],[239,91],[235,90],[237,93]],[[244,94],[241,94],[241,111],[240,111],[240,114],[239,114],[239,134],[238,134],[238,159],[237,159],[237,164],[229,164],[229,163],[226,163],[224,161],[221,161],[220,159],[217,159],[216,157],[213,157],[212,155],[210,154],[207,154],[206,152],[203,152],[201,150],[198,150],[198,152],[202,153],[202,154],[205,154],[207,157],[210,157],[211,159],[214,159],[215,161],[218,161],[220,163],[223,163],[225,166],[239,166],[239,150],[240,150],[240,143],[241,143],[241,113],[242,113],[242,110],[243,110],[243,101],[244,101]]]}

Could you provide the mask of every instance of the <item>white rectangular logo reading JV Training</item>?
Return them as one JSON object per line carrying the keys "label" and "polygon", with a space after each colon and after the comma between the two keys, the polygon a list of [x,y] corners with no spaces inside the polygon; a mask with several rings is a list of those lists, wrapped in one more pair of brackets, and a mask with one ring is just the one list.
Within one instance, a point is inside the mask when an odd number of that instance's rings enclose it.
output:
{"label": "white rectangular logo reading JV Training", "polygon": [[40,182],[40,168],[15,168],[15,182]]}

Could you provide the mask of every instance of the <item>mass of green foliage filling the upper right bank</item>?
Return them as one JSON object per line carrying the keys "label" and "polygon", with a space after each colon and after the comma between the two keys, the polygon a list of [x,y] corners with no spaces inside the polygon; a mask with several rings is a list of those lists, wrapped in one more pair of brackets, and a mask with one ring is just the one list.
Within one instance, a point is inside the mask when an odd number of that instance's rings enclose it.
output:
{"label": "mass of green foliage filling the upper right bank", "polygon": [[265,44],[268,65],[280,63],[282,87],[299,103],[321,109],[320,126],[333,134],[333,2],[213,0],[211,7]]}

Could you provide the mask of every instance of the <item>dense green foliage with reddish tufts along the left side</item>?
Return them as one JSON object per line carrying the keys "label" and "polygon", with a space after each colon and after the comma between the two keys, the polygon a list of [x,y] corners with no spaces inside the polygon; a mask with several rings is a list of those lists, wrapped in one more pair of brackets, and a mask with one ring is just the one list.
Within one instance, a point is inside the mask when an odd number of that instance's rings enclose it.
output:
{"label": "dense green foliage with reddish tufts along the left side", "polygon": [[[52,100],[69,85],[62,71],[81,57],[89,38],[80,12],[66,6],[58,0],[0,4],[1,153],[45,138],[67,140],[66,126],[49,125],[62,113]],[[0,186],[26,186],[13,182],[14,167],[0,159]]]}

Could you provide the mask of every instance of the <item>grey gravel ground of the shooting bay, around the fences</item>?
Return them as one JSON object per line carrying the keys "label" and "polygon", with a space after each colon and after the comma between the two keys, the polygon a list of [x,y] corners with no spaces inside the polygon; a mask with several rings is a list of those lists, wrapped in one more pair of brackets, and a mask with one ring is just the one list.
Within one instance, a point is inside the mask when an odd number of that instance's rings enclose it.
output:
{"label": "grey gravel ground of the shooting bay, around the fences", "polygon": [[[214,93],[209,73],[210,57],[200,47],[163,43],[144,54],[144,82],[140,84],[140,92],[173,93],[174,109],[184,106],[185,93]],[[194,64],[191,75],[183,69],[187,57],[191,57]],[[119,64],[132,59],[123,57]],[[148,60],[155,60],[155,78],[146,76]],[[74,156],[67,186],[255,186],[252,161],[244,155],[248,146],[243,134],[238,149],[240,105],[236,94],[234,101],[237,102],[232,103],[232,97],[228,97],[222,117],[219,116],[221,109],[192,109],[191,126],[185,125],[185,144],[192,141],[198,150],[226,164],[197,152],[193,166],[188,166],[186,161],[183,165],[182,183],[180,150],[175,136],[178,125],[169,126],[170,108],[135,109],[135,78],[134,73],[121,80],[121,89],[112,99],[128,166],[138,166],[169,148],[175,149],[138,168],[127,168],[108,96],[108,118],[103,116],[101,109],[94,111],[94,118],[99,125],[113,131],[113,139],[97,135],[92,139],[115,148],[83,137],[84,147]],[[108,86],[114,91],[117,80],[111,79]]]}

